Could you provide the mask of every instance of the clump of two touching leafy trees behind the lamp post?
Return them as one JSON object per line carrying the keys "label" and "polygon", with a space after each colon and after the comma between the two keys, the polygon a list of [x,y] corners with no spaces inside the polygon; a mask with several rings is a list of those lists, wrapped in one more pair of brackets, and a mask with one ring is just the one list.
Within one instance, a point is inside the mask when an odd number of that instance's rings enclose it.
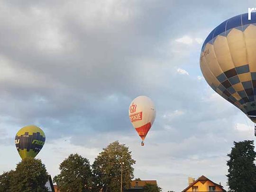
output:
{"label": "clump of two touching leafy trees behind the lamp post", "polygon": [[103,149],[91,166],[88,159],[71,154],[60,164],[60,174],[54,177],[54,182],[61,192],[119,192],[121,171],[122,185],[128,188],[134,177],[132,166],[135,163],[128,147],[113,142]]}

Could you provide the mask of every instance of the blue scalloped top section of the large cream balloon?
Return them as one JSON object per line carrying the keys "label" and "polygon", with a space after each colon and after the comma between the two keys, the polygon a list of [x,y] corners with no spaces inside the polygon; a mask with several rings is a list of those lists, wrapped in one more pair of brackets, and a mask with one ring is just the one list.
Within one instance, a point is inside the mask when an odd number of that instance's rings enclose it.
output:
{"label": "blue scalloped top section of the large cream balloon", "polygon": [[216,36],[227,35],[233,28],[244,31],[250,24],[256,24],[256,12],[251,13],[251,20],[248,20],[248,13],[229,18],[210,32],[202,45],[202,50],[208,42],[212,44]]}

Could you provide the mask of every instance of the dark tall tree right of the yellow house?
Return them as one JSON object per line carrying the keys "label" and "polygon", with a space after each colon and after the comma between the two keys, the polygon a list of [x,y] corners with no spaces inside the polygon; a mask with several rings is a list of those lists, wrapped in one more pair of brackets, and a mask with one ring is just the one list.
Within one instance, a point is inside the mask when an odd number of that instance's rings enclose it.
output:
{"label": "dark tall tree right of the yellow house", "polygon": [[256,152],[254,141],[234,142],[230,158],[228,184],[230,191],[255,192],[256,191],[256,166],[254,164]]}

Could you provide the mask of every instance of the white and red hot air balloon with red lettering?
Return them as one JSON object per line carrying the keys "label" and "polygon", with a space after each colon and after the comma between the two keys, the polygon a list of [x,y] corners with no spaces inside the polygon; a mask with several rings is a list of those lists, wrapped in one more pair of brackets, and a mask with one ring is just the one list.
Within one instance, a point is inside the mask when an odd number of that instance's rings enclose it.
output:
{"label": "white and red hot air balloon with red lettering", "polygon": [[146,96],[135,98],[129,106],[130,121],[142,139],[142,146],[144,146],[146,134],[155,121],[155,113],[153,101]]}

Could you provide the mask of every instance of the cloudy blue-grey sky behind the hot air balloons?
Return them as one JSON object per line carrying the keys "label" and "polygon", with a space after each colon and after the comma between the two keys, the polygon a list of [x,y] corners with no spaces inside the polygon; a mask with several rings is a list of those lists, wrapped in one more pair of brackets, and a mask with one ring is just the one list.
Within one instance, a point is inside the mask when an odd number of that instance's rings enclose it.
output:
{"label": "cloudy blue-grey sky behind the hot air balloons", "polygon": [[[234,141],[253,123],[211,90],[199,67],[204,39],[254,0],[0,0],[0,174],[20,161],[14,137],[38,125],[49,174],[71,153],[93,163],[126,144],[135,178],[180,192],[201,175],[226,186]],[[139,95],[155,102],[145,146],[129,122]]]}

